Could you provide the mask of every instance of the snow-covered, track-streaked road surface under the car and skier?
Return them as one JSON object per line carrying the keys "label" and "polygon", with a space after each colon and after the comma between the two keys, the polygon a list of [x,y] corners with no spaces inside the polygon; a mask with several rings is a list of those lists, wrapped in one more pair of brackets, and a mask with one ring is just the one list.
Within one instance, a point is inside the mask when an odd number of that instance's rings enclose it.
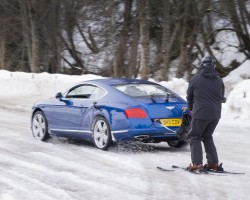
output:
{"label": "snow-covered, track-streaked road surface under the car and skier", "polygon": [[215,143],[224,168],[246,175],[161,172],[190,163],[189,148],[167,144],[90,144],[33,139],[30,113],[0,109],[0,200],[248,199],[249,131],[220,123]]}

